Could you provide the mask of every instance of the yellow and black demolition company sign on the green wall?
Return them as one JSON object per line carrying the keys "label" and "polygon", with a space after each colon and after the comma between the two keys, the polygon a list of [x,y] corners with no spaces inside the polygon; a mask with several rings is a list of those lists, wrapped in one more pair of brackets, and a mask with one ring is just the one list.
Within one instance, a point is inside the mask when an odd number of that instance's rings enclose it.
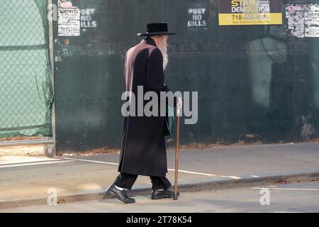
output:
{"label": "yellow and black demolition company sign on the green wall", "polygon": [[220,26],[282,24],[281,0],[219,0]]}

